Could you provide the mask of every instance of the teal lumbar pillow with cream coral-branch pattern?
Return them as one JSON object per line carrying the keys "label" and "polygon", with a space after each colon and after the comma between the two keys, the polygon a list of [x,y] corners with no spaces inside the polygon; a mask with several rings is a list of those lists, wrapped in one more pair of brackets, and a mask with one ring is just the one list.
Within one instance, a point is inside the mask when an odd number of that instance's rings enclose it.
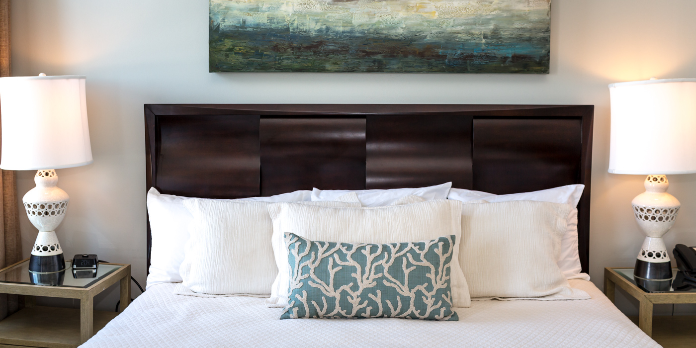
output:
{"label": "teal lumbar pillow with cream coral-branch pattern", "polygon": [[290,299],[280,319],[458,320],[452,311],[454,236],[428,242],[313,242],[285,233]]}

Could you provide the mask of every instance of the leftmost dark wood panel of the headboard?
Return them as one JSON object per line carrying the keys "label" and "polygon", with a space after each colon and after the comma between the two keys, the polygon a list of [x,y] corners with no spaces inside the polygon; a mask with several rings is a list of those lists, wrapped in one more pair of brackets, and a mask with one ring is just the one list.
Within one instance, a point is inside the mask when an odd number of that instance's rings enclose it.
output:
{"label": "leftmost dark wood panel of the headboard", "polygon": [[258,196],[258,134],[259,116],[157,118],[155,187],[189,197]]}

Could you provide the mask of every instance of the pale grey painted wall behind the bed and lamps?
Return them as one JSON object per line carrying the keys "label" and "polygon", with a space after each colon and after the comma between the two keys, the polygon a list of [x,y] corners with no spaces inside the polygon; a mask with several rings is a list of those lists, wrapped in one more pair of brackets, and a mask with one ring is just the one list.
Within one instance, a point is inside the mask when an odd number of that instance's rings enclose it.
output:
{"label": "pale grey painted wall behind the bed and lamps", "polygon": [[[66,255],[130,263],[145,284],[145,103],[594,104],[590,275],[602,287],[604,267],[633,266],[643,237],[630,202],[644,177],[606,171],[607,84],[696,77],[696,1],[553,0],[546,75],[210,74],[207,11],[206,0],[13,1],[13,74],[88,77],[95,161],[58,171],[71,197],[57,231]],[[22,196],[33,173],[18,182]],[[682,209],[667,245],[696,245],[696,175],[670,182]],[[22,215],[26,257],[36,234]],[[116,293],[97,298],[97,308],[113,308]],[[617,301],[637,312],[635,301]]]}

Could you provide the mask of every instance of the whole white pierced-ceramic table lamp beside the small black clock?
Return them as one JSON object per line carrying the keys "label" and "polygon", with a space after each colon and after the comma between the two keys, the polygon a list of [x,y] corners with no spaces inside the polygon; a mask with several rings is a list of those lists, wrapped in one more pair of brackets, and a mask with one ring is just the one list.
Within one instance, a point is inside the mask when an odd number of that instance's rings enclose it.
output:
{"label": "whole white pierced-ceramic table lamp beside the small black clock", "polygon": [[36,187],[22,202],[39,230],[31,248],[33,283],[58,285],[65,275],[56,228],[68,207],[68,193],[56,187],[56,169],[93,162],[87,127],[84,76],[0,78],[2,150],[0,168],[37,171]]}

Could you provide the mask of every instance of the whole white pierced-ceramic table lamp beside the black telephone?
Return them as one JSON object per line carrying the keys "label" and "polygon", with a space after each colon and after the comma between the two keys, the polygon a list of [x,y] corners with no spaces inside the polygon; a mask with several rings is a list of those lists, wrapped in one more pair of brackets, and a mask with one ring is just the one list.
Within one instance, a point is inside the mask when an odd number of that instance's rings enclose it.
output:
{"label": "whole white pierced-ceramic table lamp beside the black telephone", "polygon": [[670,256],[662,237],[681,204],[667,193],[668,174],[696,173],[696,79],[650,79],[609,85],[609,173],[647,175],[633,213],[645,233],[635,261],[636,283],[669,290]]}

